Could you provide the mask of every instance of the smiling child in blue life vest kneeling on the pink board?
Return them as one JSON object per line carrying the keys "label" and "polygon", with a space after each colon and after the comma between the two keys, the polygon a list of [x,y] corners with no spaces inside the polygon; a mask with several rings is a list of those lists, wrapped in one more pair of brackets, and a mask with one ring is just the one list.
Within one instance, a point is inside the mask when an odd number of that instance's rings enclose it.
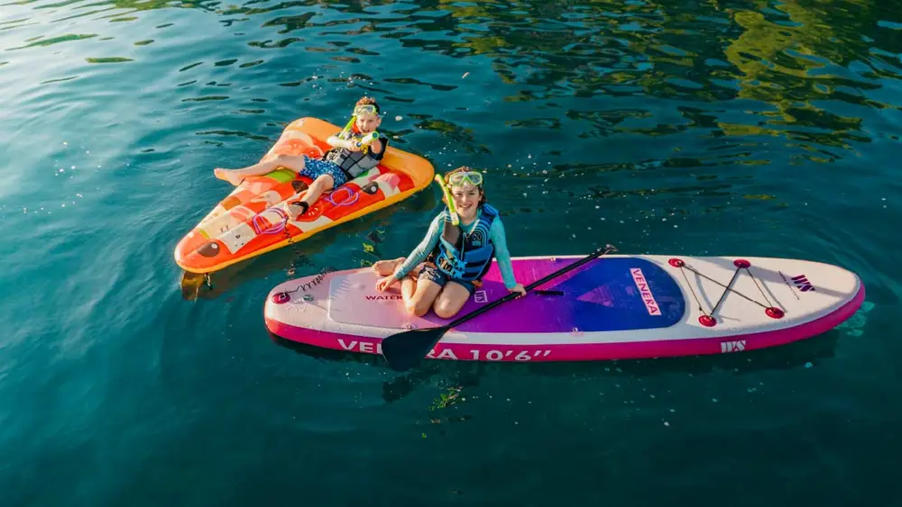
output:
{"label": "smiling child in blue life vest kneeling on the pink board", "polygon": [[[485,204],[483,175],[470,167],[458,167],[445,175],[445,184],[451,194],[449,208],[456,208],[459,225],[454,223],[453,212],[445,210],[433,219],[426,238],[407,258],[375,263],[373,270],[383,276],[376,282],[376,290],[385,291],[400,280],[408,312],[419,317],[432,308],[438,317],[450,319],[474,293],[475,285],[492,266],[492,258],[497,258],[504,286],[525,295],[513,275],[498,210]],[[446,198],[442,201],[447,203]],[[409,276],[427,258],[419,276]]]}

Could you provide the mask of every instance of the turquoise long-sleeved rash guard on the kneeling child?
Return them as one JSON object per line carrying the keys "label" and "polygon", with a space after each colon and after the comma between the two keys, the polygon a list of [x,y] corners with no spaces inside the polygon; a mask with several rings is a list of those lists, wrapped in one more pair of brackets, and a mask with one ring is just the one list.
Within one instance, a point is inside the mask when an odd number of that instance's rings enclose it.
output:
{"label": "turquoise long-sleeved rash guard on the kneeling child", "polygon": [[[487,204],[483,204],[483,206],[486,205]],[[468,224],[465,224],[464,222],[460,223],[460,227],[465,236],[471,235],[480,227],[480,225],[484,227],[484,218],[490,213],[483,213],[483,206],[479,207],[473,222]],[[492,217],[492,224],[489,226],[489,242],[492,243],[493,247],[492,255],[494,258],[498,259],[498,267],[502,274],[504,286],[507,287],[508,290],[511,290],[517,285],[517,280],[513,276],[511,252],[509,252],[507,248],[504,224],[502,224],[501,218],[497,216],[494,209],[491,207],[489,209],[492,211],[491,214],[494,215]],[[404,259],[404,262],[395,269],[394,276],[396,279],[400,280],[404,276],[407,276],[411,269],[417,267],[420,262],[423,262],[428,258],[429,254],[436,251],[439,246],[439,241],[441,241],[442,231],[445,227],[446,220],[448,220],[447,212],[439,214],[432,220],[432,223],[429,224],[429,230],[426,233],[426,237],[420,241],[416,249],[413,249],[413,251],[410,252],[410,255]],[[452,277],[452,279],[454,279],[454,277]]]}

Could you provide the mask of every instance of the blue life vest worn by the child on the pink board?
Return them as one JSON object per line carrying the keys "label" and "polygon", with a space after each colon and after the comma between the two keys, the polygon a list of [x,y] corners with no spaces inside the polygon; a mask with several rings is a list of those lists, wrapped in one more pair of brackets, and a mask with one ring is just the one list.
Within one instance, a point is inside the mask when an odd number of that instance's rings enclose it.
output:
{"label": "blue life vest worn by the child on the pink board", "polygon": [[442,235],[430,259],[439,271],[450,278],[467,282],[482,278],[492,267],[495,247],[489,240],[489,230],[498,218],[498,210],[483,204],[482,214],[469,233],[451,222],[451,213],[447,210],[441,216],[444,220]]}

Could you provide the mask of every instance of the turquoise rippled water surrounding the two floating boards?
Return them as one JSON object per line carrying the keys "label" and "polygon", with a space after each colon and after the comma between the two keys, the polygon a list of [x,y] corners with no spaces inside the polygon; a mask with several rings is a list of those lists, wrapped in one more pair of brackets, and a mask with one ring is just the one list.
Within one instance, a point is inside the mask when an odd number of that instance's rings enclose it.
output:
{"label": "turquoise rippled water surrounding the two floating boards", "polygon": [[[0,13],[3,505],[897,497],[899,3]],[[273,285],[404,255],[432,188],[183,288],[172,249],[228,191],[213,167],[364,94],[395,146],[487,169],[513,255],[809,258],[867,301],[814,339],[713,358],[399,376],[270,338]]]}

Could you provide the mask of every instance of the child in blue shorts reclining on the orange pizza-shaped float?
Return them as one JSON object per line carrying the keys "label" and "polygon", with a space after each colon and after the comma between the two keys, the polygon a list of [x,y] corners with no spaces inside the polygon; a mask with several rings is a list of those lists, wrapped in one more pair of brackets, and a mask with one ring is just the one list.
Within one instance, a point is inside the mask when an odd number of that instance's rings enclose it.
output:
{"label": "child in blue shorts reclining on the orange pizza-shaped float", "polygon": [[382,123],[379,104],[373,98],[364,96],[354,104],[354,115],[345,130],[331,136],[326,141],[329,149],[322,158],[310,158],[307,155],[279,155],[265,162],[241,169],[224,169],[216,167],[213,174],[232,185],[238,186],[245,177],[261,176],[285,167],[299,175],[309,177],[313,183],[307,194],[299,201],[289,204],[288,211],[292,220],[307,213],[309,207],[317,202],[324,192],[345,185],[348,181],[379,165],[389,140],[375,137],[368,145],[362,140],[370,137]]}

